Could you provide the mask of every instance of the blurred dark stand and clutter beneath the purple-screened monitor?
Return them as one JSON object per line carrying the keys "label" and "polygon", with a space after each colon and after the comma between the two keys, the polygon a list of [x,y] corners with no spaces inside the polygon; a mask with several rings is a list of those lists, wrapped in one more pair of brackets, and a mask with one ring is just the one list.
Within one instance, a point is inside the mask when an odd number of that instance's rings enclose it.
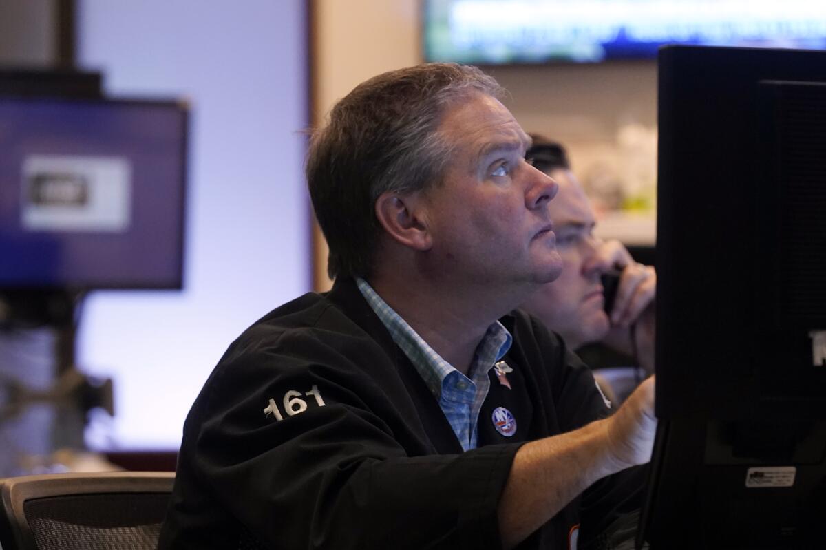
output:
{"label": "blurred dark stand and clutter beneath the purple-screened monitor", "polygon": [[[40,467],[59,449],[82,451],[88,411],[112,415],[112,380],[97,380],[76,363],[84,294],[0,292],[0,429],[15,439],[0,450],[0,475]],[[46,458],[48,460],[48,458]]]}

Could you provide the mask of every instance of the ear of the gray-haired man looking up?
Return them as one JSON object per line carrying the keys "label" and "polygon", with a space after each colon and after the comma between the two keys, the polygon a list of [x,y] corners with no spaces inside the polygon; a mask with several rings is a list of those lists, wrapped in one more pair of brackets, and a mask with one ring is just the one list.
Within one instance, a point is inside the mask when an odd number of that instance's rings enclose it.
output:
{"label": "ear of the gray-haired man looking up", "polygon": [[424,206],[420,192],[386,192],[376,201],[376,217],[396,242],[424,251],[432,246]]}

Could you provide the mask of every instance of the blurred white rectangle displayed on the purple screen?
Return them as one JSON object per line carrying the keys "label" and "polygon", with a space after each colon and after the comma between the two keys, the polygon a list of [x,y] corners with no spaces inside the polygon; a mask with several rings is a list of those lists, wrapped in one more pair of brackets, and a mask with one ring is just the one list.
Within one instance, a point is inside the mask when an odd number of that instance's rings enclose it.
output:
{"label": "blurred white rectangle displayed on the purple screen", "polygon": [[21,175],[23,229],[129,229],[132,168],[127,159],[36,154],[23,161]]}

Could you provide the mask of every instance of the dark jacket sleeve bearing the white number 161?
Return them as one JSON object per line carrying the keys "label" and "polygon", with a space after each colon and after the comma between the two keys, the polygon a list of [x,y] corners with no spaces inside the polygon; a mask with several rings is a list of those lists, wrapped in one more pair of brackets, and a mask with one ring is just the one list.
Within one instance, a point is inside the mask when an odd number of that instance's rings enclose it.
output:
{"label": "dark jacket sleeve bearing the white number 161", "polygon": [[347,346],[287,334],[228,353],[202,396],[201,482],[267,548],[500,548],[496,505],[519,445],[411,453],[402,394]]}

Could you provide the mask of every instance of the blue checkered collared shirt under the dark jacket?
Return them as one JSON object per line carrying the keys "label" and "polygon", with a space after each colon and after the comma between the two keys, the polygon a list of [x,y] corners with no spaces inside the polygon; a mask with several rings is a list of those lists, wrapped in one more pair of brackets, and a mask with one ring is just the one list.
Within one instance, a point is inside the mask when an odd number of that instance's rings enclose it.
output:
{"label": "blue checkered collared shirt under the dark jacket", "polygon": [[466,451],[476,448],[479,410],[491,387],[487,373],[510,349],[513,340],[510,332],[499,321],[487,327],[485,336],[473,354],[468,371],[470,377],[466,377],[421,339],[411,325],[387,306],[368,282],[357,278],[356,284],[364,299],[390,331],[393,341],[411,360],[430,392],[439,401],[439,407],[459,443],[462,443],[462,448]]}

